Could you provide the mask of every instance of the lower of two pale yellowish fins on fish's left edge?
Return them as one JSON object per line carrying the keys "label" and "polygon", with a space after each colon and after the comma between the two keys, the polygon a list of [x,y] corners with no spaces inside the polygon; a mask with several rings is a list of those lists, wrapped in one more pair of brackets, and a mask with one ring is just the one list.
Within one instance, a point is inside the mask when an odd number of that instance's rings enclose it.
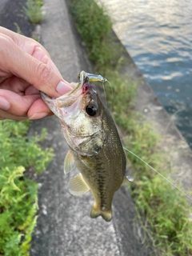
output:
{"label": "lower of two pale yellowish fins on fish's left edge", "polygon": [[90,190],[89,186],[82,178],[82,174],[78,174],[70,180],[70,194],[81,195],[86,194]]}

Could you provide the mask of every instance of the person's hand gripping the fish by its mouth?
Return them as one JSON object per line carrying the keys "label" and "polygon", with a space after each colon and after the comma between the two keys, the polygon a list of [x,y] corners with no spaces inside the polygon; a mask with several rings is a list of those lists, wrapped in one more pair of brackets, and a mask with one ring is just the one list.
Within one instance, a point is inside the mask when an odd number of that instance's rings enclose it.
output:
{"label": "person's hand gripping the fish by its mouth", "polygon": [[39,90],[56,98],[71,86],[41,44],[0,26],[0,120],[53,114]]}

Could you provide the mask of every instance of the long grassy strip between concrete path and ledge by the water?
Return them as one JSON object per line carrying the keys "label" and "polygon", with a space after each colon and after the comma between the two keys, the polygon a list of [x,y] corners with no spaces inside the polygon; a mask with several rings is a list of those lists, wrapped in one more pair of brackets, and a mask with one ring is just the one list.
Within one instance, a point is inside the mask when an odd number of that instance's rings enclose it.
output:
{"label": "long grassy strip between concrete path and ledge by the water", "polygon": [[[114,119],[123,134],[126,134],[124,145],[168,177],[171,170],[166,168],[168,156],[161,153],[161,138],[154,131],[153,124],[143,120],[141,114],[134,110],[137,81],[121,78],[118,73],[120,58],[115,53],[117,47],[111,52],[108,50],[115,45],[110,36],[110,19],[94,0],[71,2],[70,10],[77,30],[96,67],[94,72],[105,73],[113,87],[111,94],[110,88],[107,90],[106,86],[106,94],[113,102]],[[156,248],[154,254],[192,255],[191,208],[186,198],[134,155],[127,154],[127,158],[130,170],[134,173],[130,189],[134,195],[138,220],[146,231],[146,239]]]}

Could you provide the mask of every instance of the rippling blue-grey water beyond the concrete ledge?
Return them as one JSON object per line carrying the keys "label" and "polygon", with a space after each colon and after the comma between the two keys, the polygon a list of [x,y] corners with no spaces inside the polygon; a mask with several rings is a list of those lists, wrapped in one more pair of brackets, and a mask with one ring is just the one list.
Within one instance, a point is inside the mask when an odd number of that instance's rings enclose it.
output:
{"label": "rippling blue-grey water beyond the concrete ledge", "polygon": [[192,1],[101,2],[118,38],[192,147]]}

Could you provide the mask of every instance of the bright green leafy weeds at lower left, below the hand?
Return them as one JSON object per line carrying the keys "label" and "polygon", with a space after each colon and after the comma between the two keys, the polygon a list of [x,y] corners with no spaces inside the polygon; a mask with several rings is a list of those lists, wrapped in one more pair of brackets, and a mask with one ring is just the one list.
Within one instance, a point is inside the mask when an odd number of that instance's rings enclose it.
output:
{"label": "bright green leafy weeds at lower left, below the hand", "polygon": [[53,153],[42,135],[27,138],[30,122],[0,122],[0,255],[29,255],[38,210],[38,183],[28,177],[45,170]]}

